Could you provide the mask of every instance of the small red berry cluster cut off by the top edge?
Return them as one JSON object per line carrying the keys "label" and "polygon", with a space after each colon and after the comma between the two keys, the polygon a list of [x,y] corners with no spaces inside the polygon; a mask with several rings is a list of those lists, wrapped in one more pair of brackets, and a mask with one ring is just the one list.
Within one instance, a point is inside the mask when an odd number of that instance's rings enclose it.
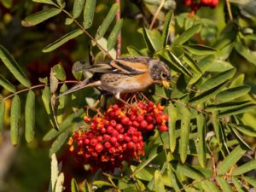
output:
{"label": "small red berry cluster cut off by the top edge", "polygon": [[193,10],[200,9],[202,6],[212,9],[218,6],[218,0],[183,0],[183,3]]}

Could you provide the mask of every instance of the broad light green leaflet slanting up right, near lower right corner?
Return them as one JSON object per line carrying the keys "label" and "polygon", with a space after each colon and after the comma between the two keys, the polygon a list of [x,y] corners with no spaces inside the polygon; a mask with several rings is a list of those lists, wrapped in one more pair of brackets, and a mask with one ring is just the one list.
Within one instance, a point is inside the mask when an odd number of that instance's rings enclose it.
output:
{"label": "broad light green leaflet slanting up right, near lower right corner", "polygon": [[237,146],[233,151],[220,163],[217,168],[218,175],[224,175],[228,172],[231,166],[236,165],[236,162],[241,159],[242,155],[246,153],[246,150]]}

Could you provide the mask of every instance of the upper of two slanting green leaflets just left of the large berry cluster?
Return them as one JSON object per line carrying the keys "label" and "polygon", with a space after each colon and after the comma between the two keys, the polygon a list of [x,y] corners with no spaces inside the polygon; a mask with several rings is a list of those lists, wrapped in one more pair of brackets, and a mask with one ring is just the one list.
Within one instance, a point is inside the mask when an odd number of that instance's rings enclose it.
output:
{"label": "upper of two slanting green leaflets just left of the large berry cluster", "polygon": [[45,136],[43,137],[43,141],[50,141],[54,137],[60,135],[62,132],[66,131],[69,128],[72,128],[75,123],[77,123],[79,120],[82,121],[82,119],[79,119],[81,114],[84,113],[83,109],[79,109],[77,113],[70,114],[60,125],[59,131],[56,131],[55,129],[51,129],[48,131]]}

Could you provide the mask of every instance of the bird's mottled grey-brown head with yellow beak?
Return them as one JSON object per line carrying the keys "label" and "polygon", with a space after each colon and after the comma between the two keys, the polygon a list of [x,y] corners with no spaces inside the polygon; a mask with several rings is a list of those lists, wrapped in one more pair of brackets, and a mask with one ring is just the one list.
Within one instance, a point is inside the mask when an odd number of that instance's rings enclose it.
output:
{"label": "bird's mottled grey-brown head with yellow beak", "polygon": [[171,81],[171,73],[166,63],[153,59],[148,62],[148,67],[151,78],[155,82],[162,83],[165,88],[168,88]]}

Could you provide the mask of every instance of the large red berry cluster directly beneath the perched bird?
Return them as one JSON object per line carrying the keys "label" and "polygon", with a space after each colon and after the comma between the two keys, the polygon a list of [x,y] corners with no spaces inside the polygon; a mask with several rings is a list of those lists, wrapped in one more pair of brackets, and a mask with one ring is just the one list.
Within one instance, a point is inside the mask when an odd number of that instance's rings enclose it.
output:
{"label": "large red berry cluster directly beneath the perched bird", "polygon": [[144,154],[143,133],[158,127],[167,131],[167,115],[164,107],[153,102],[137,102],[136,105],[109,106],[103,115],[92,119],[84,116],[84,122],[90,123],[90,129],[79,129],[70,137],[70,151],[78,155],[91,171],[102,168],[113,172],[122,167],[122,161],[139,160]]}

